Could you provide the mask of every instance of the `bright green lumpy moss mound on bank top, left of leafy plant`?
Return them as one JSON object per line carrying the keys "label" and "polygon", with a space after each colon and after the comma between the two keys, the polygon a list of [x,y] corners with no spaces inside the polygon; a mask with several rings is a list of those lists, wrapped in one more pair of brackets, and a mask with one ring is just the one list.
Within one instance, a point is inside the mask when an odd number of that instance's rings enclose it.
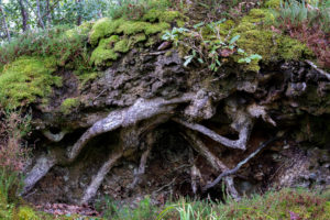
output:
{"label": "bright green lumpy moss mound on bank top, left of leafy plant", "polygon": [[177,11],[152,9],[141,21],[125,19],[101,19],[95,23],[89,33],[89,43],[97,48],[90,61],[96,66],[110,66],[120,53],[127,53],[140,42],[152,44],[152,35],[162,33],[172,25],[184,25],[186,18]]}

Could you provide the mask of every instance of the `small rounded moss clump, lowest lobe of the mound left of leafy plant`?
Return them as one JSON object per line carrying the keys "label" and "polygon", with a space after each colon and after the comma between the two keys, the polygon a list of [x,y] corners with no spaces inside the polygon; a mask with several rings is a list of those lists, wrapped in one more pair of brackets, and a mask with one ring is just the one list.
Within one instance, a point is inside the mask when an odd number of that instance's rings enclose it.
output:
{"label": "small rounded moss clump, lowest lobe of the mound left of leafy plant", "polygon": [[90,61],[96,66],[103,66],[107,65],[107,62],[109,61],[116,61],[118,58],[118,54],[112,50],[112,47],[118,41],[118,35],[112,35],[109,38],[102,38],[99,46],[91,53]]}

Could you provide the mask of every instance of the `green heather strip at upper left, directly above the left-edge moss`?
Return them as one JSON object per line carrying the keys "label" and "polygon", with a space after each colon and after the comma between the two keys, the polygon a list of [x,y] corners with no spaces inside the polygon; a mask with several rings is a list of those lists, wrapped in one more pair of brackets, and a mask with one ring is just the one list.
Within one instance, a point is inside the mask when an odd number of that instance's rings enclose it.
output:
{"label": "green heather strip at upper left, directly above the left-edge moss", "polygon": [[[81,29],[88,26],[81,26]],[[90,68],[87,54],[88,32],[77,29],[70,31],[68,26],[55,26],[36,32],[26,32],[10,43],[0,47],[0,67],[13,62],[16,57],[41,56],[54,57],[57,65],[77,64],[77,68]],[[0,68],[1,70],[1,68]]]}

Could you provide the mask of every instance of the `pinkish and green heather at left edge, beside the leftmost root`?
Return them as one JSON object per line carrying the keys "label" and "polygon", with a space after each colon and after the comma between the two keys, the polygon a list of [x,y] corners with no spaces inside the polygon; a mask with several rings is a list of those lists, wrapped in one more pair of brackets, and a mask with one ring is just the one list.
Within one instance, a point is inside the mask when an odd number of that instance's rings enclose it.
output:
{"label": "pinkish and green heather at left edge, beside the leftmost root", "polygon": [[22,188],[21,170],[29,156],[22,138],[30,132],[30,114],[0,107],[0,219],[11,219]]}

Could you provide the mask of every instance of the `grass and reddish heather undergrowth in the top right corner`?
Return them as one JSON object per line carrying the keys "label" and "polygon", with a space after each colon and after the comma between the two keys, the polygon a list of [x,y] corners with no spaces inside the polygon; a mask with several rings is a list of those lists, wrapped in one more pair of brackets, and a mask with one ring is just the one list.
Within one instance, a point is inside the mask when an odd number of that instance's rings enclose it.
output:
{"label": "grass and reddish heather undergrowth in the top right corner", "polygon": [[280,1],[273,10],[277,28],[307,44],[321,67],[330,68],[330,0]]}

